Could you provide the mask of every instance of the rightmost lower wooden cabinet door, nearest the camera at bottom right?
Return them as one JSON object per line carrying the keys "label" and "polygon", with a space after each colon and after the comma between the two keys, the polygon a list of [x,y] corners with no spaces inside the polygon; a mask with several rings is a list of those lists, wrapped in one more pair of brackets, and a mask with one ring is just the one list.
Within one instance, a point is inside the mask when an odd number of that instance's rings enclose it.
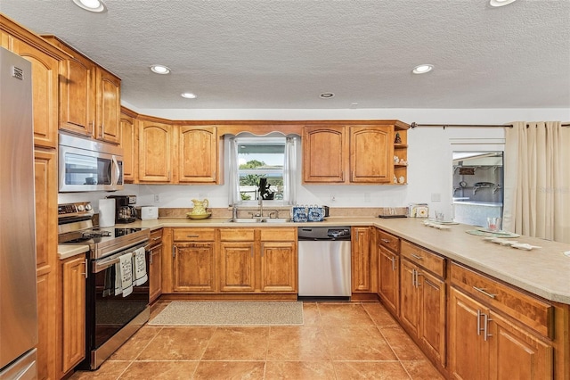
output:
{"label": "rightmost lower wooden cabinet door, nearest the camera at bottom right", "polygon": [[490,379],[552,378],[552,346],[491,312]]}

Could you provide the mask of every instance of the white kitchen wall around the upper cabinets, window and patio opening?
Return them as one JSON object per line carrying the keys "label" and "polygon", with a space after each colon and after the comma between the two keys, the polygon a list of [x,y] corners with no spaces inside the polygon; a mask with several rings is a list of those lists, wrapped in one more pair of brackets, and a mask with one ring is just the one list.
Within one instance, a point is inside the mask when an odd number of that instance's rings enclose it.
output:
{"label": "white kitchen wall around the upper cabinets, window and patio opening", "polygon": [[[402,120],[418,124],[508,124],[512,121],[570,121],[569,109],[509,110],[140,110],[135,112],[170,120]],[[407,186],[330,186],[299,184],[297,202],[327,204],[330,207],[405,206],[428,202],[430,210],[452,215],[452,148],[450,139],[501,139],[502,128],[414,128],[408,131]],[[226,154],[226,157],[228,155]],[[300,166],[299,166],[300,169]],[[191,199],[208,198],[210,207],[228,204],[227,180],[224,186],[130,185],[117,194],[138,195],[138,204],[159,207],[192,207]],[[154,202],[159,194],[160,202]],[[330,194],[335,201],[330,201]],[[439,194],[441,202],[432,202]],[[59,202],[92,201],[107,193],[60,194]]]}

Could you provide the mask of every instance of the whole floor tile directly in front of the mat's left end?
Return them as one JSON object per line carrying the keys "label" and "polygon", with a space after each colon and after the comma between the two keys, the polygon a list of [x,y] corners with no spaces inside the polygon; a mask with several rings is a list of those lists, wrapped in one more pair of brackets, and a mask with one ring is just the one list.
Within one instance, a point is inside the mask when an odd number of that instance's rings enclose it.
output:
{"label": "whole floor tile directly in front of the mat's left end", "polygon": [[163,327],[137,360],[199,360],[216,327]]}

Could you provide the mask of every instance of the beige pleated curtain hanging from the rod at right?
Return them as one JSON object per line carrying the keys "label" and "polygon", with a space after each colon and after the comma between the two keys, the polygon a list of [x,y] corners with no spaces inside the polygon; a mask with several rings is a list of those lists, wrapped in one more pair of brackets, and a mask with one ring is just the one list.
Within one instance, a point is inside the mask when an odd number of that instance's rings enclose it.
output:
{"label": "beige pleated curtain hanging from the rod at right", "polygon": [[559,121],[505,128],[503,229],[570,243],[570,128]]}

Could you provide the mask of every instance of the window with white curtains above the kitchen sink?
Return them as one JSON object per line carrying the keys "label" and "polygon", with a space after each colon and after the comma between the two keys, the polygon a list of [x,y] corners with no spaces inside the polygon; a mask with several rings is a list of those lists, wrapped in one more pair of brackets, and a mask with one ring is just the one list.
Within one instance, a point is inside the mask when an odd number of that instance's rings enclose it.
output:
{"label": "window with white curtains above the kitchen sink", "polygon": [[255,202],[260,178],[267,183],[263,198],[294,204],[297,186],[296,136],[236,136],[230,141],[230,204]]}

